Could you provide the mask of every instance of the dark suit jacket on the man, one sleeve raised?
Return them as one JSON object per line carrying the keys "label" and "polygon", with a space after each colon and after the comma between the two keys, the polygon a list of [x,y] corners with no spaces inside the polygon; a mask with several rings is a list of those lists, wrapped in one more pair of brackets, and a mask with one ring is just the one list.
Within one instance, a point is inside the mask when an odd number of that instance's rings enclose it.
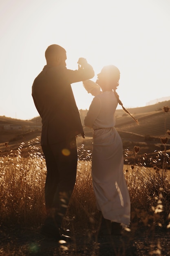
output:
{"label": "dark suit jacket on the man, one sleeve raised", "polygon": [[84,132],[71,83],[93,76],[89,64],[79,70],[46,65],[35,78],[32,97],[42,118],[41,145],[54,144]]}

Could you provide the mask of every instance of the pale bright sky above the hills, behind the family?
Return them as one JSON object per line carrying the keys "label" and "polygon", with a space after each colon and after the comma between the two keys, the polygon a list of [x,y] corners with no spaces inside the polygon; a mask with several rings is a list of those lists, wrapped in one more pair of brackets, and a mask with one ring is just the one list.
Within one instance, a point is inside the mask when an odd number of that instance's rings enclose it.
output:
{"label": "pale bright sky above the hills, behind the family", "polygon": [[[170,0],[0,0],[0,116],[38,116],[31,96],[51,44],[67,52],[67,68],[79,57],[97,74],[113,64],[126,108],[170,96]],[[93,99],[82,82],[72,84],[79,109]]]}

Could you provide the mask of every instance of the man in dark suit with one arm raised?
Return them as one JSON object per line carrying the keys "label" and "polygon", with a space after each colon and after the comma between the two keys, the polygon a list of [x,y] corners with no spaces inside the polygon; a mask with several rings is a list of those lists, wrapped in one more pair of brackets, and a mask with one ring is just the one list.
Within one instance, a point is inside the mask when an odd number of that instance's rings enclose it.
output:
{"label": "man in dark suit with one arm raised", "polygon": [[42,118],[41,146],[47,168],[47,218],[42,232],[63,239],[62,220],[77,172],[76,136],[82,134],[84,137],[71,83],[93,78],[94,71],[85,58],[79,58],[78,70],[68,70],[66,50],[60,45],[50,45],[46,49],[45,58],[46,65],[32,86],[35,107]]}

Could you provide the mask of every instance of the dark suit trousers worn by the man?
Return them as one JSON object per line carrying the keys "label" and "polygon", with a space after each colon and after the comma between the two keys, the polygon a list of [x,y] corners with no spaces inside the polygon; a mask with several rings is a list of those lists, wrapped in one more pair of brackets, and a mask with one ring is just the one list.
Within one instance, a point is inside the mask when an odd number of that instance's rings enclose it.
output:
{"label": "dark suit trousers worn by the man", "polygon": [[42,146],[46,160],[45,203],[49,215],[55,215],[60,227],[65,216],[77,173],[77,144],[73,137],[67,141]]}

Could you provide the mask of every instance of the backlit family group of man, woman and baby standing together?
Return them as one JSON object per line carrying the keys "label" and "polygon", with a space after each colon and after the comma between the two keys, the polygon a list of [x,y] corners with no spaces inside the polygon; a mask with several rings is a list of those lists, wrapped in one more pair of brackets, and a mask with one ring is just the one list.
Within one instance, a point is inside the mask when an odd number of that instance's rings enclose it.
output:
{"label": "backlit family group of man, woman and baby standing together", "polygon": [[123,225],[130,224],[130,197],[123,173],[122,141],[115,129],[117,104],[123,107],[116,92],[119,69],[114,65],[103,67],[95,83],[89,80],[95,73],[85,58],[79,58],[78,70],[66,68],[66,50],[60,45],[50,45],[45,58],[46,65],[32,86],[33,101],[42,118],[41,146],[47,168],[47,216],[41,231],[57,240],[71,239],[62,227],[62,220],[75,185],[76,136],[84,137],[71,84],[82,81],[85,89],[95,96],[84,125],[93,129],[91,174],[97,209],[102,216],[97,234],[120,235]]}

